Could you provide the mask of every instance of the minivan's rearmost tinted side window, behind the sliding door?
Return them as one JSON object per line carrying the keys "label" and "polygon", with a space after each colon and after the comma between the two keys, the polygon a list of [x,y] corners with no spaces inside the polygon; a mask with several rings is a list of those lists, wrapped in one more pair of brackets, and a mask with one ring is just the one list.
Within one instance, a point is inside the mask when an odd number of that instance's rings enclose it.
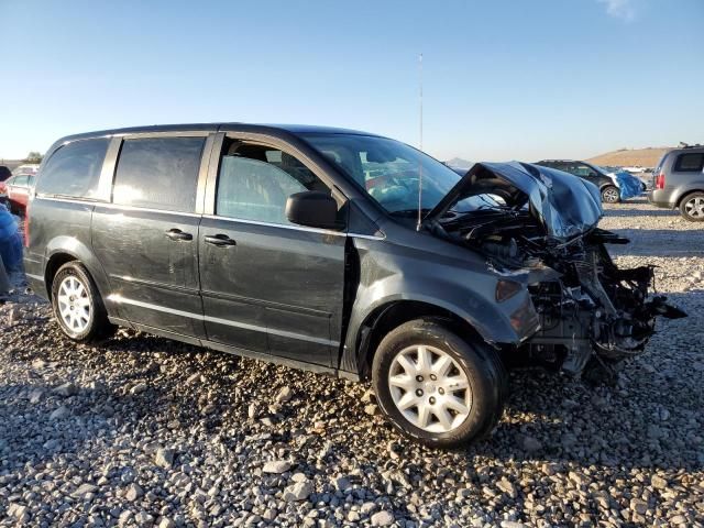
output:
{"label": "minivan's rearmost tinted side window, behind the sliding door", "polygon": [[95,197],[109,141],[106,138],[75,141],[58,148],[42,169],[36,191],[74,198]]}

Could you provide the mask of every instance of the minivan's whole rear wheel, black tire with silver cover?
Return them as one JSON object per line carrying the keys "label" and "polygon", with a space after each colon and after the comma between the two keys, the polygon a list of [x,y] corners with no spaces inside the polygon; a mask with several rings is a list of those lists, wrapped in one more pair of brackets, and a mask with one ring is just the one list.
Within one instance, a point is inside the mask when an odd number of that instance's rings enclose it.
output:
{"label": "minivan's whole rear wheel, black tire with silver cover", "polygon": [[85,266],[64,264],[52,283],[52,305],[62,331],[75,341],[92,341],[114,333],[102,298]]}

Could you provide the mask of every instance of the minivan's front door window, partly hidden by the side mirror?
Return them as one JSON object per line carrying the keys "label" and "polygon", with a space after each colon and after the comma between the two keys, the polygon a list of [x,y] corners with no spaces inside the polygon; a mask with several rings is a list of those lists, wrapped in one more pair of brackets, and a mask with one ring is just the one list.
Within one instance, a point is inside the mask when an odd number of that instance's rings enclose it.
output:
{"label": "minivan's front door window, partly hidden by the side mirror", "polygon": [[286,200],[295,193],[327,186],[290,154],[264,145],[231,141],[220,158],[216,215],[266,223],[292,223]]}

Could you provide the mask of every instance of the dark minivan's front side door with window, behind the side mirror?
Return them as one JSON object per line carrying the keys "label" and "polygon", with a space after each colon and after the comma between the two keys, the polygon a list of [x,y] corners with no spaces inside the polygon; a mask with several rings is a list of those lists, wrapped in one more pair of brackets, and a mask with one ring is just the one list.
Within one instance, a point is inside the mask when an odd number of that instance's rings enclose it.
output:
{"label": "dark minivan's front side door with window, behind the side mirror", "polygon": [[329,191],[295,156],[226,138],[215,213],[199,230],[206,332],[224,344],[331,366],[345,234],[288,222],[288,196],[306,189]]}

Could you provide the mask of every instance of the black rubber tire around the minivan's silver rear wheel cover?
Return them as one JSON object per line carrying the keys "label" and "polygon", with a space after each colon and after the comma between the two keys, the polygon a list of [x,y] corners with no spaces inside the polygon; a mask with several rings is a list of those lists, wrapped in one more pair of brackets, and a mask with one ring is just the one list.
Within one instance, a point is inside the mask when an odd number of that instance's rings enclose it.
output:
{"label": "black rubber tire around the minivan's silver rear wheel cover", "polygon": [[[90,301],[88,322],[85,329],[76,331],[70,328],[62,317],[58,302],[58,289],[67,277],[74,277],[85,288]],[[72,261],[58,268],[52,282],[52,306],[54,316],[62,331],[74,341],[100,341],[112,336],[117,327],[108,320],[108,312],[98,292],[98,287],[86,267],[78,261]]]}

